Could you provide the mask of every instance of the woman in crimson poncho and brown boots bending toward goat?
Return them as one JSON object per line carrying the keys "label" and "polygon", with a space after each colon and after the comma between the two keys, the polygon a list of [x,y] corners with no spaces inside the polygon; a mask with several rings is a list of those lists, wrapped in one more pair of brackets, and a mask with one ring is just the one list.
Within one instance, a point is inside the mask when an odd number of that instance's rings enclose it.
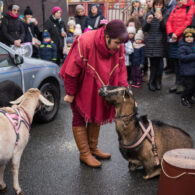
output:
{"label": "woman in crimson poncho and brown boots bending toward goat", "polygon": [[80,160],[100,167],[111,155],[97,148],[100,125],[112,122],[114,109],[98,95],[104,85],[129,86],[123,43],[129,36],[124,23],[113,20],[98,30],[80,35],[60,70],[66,90],[64,101],[71,103],[73,134]]}

